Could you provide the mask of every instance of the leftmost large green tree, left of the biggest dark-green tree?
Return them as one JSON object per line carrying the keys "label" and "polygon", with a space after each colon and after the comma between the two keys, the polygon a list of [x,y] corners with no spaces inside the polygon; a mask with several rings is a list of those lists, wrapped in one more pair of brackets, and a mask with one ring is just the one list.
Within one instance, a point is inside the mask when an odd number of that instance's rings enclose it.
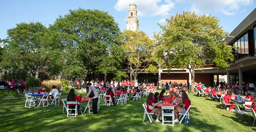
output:
{"label": "leftmost large green tree, left of the biggest dark-green tree", "polygon": [[[2,40],[2,68],[9,69],[14,74],[30,72],[33,77],[42,69],[50,69],[55,56],[42,41],[47,30],[40,22],[22,22],[7,30],[8,36]],[[20,70],[23,72],[18,72]]]}

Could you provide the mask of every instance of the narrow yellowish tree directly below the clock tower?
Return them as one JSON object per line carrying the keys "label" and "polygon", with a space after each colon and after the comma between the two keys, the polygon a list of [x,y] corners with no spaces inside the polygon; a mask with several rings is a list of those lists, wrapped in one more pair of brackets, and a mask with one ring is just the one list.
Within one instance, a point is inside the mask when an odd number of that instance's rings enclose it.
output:
{"label": "narrow yellowish tree directly below the clock tower", "polygon": [[122,43],[126,64],[131,71],[130,80],[134,77],[136,84],[140,73],[156,72],[157,64],[154,59],[154,41],[143,31],[124,30],[122,32]]}

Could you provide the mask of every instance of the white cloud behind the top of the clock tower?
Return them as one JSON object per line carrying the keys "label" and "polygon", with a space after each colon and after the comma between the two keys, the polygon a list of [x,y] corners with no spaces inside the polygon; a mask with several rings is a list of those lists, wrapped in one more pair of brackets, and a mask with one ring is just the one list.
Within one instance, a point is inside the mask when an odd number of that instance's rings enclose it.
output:
{"label": "white cloud behind the top of the clock tower", "polygon": [[114,6],[117,11],[127,11],[129,4],[136,4],[138,16],[167,16],[174,8],[172,0],[165,0],[164,4],[159,4],[162,0],[118,0]]}

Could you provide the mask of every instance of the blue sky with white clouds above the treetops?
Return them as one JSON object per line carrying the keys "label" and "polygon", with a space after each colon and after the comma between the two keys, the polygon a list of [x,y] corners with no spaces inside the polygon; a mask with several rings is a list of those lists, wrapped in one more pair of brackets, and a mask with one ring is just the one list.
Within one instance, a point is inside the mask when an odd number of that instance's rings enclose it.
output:
{"label": "blue sky with white clouds above the treetops", "polygon": [[79,7],[109,12],[123,30],[129,3],[137,5],[139,30],[150,37],[160,31],[158,22],[165,24],[164,18],[183,11],[216,16],[223,29],[230,33],[256,7],[255,0],[1,0],[0,38],[6,38],[6,31],[16,23],[39,21],[48,27],[59,15]]}

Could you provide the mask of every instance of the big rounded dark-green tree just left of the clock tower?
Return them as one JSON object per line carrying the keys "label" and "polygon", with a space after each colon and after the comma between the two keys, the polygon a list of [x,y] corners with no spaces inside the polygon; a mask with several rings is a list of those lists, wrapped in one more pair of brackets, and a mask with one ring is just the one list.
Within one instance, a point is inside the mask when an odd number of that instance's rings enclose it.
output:
{"label": "big rounded dark-green tree just left of the clock tower", "polygon": [[120,29],[107,12],[69,10],[49,29],[45,41],[60,50],[66,79],[113,73],[123,61]]}

